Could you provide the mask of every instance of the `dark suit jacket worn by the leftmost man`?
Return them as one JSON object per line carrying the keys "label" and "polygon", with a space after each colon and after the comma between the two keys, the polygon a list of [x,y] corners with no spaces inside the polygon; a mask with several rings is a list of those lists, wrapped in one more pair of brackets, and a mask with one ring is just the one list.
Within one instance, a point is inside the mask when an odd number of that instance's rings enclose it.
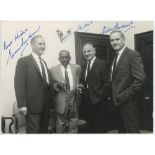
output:
{"label": "dark suit jacket worn by the leftmost man", "polygon": [[[52,82],[50,74],[49,80]],[[42,111],[44,91],[47,84],[43,81],[39,67],[32,55],[18,60],[14,87],[19,108],[27,107],[28,113],[40,113]]]}

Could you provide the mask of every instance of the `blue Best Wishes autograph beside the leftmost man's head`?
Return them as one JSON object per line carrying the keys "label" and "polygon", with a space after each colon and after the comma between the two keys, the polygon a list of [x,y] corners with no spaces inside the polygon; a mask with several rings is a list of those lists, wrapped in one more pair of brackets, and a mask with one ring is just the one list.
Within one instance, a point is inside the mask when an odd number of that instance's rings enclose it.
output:
{"label": "blue Best Wishes autograph beside the leftmost man's head", "polygon": [[[20,52],[21,56],[28,45],[28,41],[40,30],[40,26],[33,32],[28,32],[28,29],[20,30],[16,32],[13,39],[10,41],[4,41],[3,50],[8,52],[8,60],[9,63],[10,58],[13,59],[17,53]],[[13,49],[13,46],[17,46],[17,48]]]}

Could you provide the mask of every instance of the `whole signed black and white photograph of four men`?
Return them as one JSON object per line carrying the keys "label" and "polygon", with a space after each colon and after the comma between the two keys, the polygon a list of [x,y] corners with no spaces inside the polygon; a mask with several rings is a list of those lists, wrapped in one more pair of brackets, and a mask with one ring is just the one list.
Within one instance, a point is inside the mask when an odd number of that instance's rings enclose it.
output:
{"label": "whole signed black and white photograph of four men", "polygon": [[2,21],[2,134],[152,134],[153,21]]}

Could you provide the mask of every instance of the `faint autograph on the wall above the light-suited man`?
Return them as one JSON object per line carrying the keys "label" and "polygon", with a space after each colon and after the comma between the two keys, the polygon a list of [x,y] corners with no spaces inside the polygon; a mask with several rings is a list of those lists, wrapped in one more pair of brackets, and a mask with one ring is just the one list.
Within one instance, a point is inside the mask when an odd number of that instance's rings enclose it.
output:
{"label": "faint autograph on the wall above the light-suited man", "polygon": [[78,25],[77,29],[75,29],[73,32],[71,30],[71,28],[69,28],[67,31],[66,31],[66,35],[64,35],[64,33],[57,29],[57,34],[58,34],[58,37],[60,39],[60,42],[63,42],[65,41],[69,36],[71,36],[74,32],[79,32],[81,30],[84,30],[86,27],[88,27],[89,25],[91,25],[93,23],[93,21],[90,21],[90,22],[87,22],[85,23],[84,25]]}

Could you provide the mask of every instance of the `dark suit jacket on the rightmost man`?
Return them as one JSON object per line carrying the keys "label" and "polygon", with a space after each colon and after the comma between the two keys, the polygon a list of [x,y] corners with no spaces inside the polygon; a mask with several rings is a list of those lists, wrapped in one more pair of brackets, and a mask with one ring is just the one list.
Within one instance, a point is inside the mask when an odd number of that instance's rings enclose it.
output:
{"label": "dark suit jacket on the rightmost man", "polygon": [[138,52],[129,48],[123,51],[112,80],[112,93],[115,105],[121,105],[141,91],[145,72]]}

